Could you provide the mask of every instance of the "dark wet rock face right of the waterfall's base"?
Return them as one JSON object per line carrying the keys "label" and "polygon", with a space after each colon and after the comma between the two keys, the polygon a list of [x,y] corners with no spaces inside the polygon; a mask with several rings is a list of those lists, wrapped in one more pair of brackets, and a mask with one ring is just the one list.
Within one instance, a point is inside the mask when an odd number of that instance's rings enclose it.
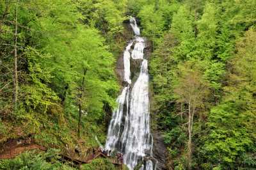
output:
{"label": "dark wet rock face right of the waterfall's base", "polygon": [[153,153],[154,158],[157,159],[157,170],[167,169],[166,162],[167,162],[167,149],[164,144],[164,140],[162,134],[160,132],[152,132],[153,139],[154,139],[154,146],[153,146]]}

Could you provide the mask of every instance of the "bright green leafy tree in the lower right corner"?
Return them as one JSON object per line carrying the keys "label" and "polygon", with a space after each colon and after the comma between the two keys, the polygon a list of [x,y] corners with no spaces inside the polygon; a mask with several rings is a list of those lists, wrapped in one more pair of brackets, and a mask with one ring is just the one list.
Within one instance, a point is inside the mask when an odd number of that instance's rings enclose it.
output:
{"label": "bright green leafy tree in the lower right corner", "polygon": [[211,162],[232,167],[237,157],[253,150],[253,141],[247,132],[250,127],[243,126],[251,119],[237,111],[236,104],[222,104],[211,110],[208,123],[211,132],[205,143]]}

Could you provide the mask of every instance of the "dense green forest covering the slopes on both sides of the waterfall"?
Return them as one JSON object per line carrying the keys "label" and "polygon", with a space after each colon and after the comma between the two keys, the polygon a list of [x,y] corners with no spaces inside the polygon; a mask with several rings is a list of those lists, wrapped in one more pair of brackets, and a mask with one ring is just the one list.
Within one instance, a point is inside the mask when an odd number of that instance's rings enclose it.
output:
{"label": "dense green forest covering the slopes on both sides of the waterfall", "polygon": [[163,168],[256,169],[255,0],[0,0],[0,153],[31,135],[49,148],[0,169],[76,169],[59,153],[105,143],[131,16],[150,46]]}

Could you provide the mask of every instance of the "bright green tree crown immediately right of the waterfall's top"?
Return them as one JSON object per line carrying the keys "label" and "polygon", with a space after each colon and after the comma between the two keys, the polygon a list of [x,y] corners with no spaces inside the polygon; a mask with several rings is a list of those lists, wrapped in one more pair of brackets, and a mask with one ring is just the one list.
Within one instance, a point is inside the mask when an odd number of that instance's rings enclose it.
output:
{"label": "bright green tree crown immediately right of the waterfall's top", "polygon": [[[173,13],[179,9],[177,1],[132,1],[130,11],[140,18],[143,35],[159,45],[172,23]],[[128,7],[129,8],[129,7]],[[150,14],[150,15],[149,15]]]}

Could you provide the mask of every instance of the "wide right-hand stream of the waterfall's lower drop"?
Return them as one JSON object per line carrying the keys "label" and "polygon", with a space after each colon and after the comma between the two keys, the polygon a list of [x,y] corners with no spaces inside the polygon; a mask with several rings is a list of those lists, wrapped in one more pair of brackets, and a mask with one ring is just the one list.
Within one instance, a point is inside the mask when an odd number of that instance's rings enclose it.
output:
{"label": "wide right-hand stream of the waterfall's lower drop", "polygon": [[147,60],[141,63],[140,76],[131,91],[129,128],[126,135],[124,162],[129,169],[138,164],[138,160],[152,155],[152,138],[150,135],[148,101]]}

